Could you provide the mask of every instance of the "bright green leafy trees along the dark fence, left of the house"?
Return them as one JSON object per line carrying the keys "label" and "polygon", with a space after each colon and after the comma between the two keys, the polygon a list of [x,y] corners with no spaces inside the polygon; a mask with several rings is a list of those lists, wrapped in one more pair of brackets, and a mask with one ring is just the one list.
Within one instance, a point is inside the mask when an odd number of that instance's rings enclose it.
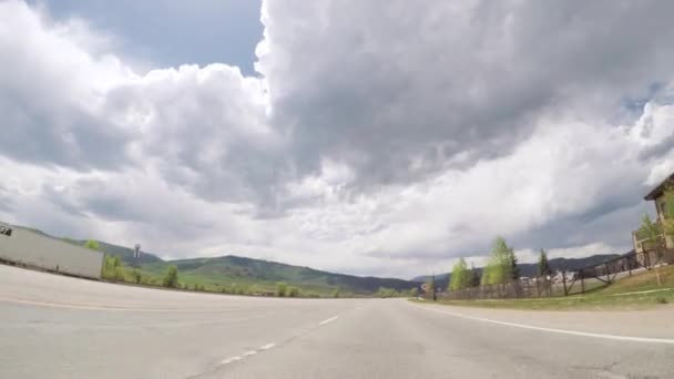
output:
{"label": "bright green leafy trees along the dark fence, left of the house", "polygon": [[[540,252],[538,268],[539,275],[552,274],[545,249],[541,249]],[[452,267],[448,289],[460,290],[469,287],[506,284],[519,278],[520,269],[514,249],[508,246],[506,239],[497,237],[493,242],[487,266],[481,270],[472,264],[468,268],[466,259],[459,258]]]}

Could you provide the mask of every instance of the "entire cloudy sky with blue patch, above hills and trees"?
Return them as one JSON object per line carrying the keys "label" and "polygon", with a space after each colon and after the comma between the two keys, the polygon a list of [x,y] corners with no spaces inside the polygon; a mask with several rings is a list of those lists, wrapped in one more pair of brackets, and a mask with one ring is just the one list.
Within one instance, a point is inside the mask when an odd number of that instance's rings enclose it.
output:
{"label": "entire cloudy sky with blue patch, above hills and trees", "polygon": [[624,253],[674,2],[0,1],[0,219],[412,277]]}

